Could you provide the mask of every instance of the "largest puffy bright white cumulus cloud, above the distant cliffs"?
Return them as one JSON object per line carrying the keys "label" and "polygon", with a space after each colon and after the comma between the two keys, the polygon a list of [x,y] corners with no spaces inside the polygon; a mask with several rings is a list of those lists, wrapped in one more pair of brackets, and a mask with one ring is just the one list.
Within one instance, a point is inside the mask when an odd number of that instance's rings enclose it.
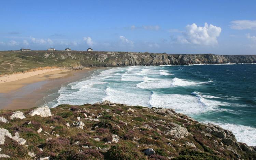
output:
{"label": "largest puffy bright white cumulus cloud, above the distant cliffs", "polygon": [[195,23],[186,26],[183,36],[178,36],[177,41],[181,44],[215,45],[217,37],[221,33],[221,27],[204,24],[204,27],[197,27]]}

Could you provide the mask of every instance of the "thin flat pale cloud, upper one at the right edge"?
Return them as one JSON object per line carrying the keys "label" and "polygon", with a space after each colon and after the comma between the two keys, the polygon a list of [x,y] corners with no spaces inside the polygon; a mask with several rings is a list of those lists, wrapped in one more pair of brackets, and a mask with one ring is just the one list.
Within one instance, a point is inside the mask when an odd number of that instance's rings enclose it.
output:
{"label": "thin flat pale cloud, upper one at the right edge", "polygon": [[230,26],[232,29],[256,29],[256,20],[234,20],[230,23],[232,23]]}

